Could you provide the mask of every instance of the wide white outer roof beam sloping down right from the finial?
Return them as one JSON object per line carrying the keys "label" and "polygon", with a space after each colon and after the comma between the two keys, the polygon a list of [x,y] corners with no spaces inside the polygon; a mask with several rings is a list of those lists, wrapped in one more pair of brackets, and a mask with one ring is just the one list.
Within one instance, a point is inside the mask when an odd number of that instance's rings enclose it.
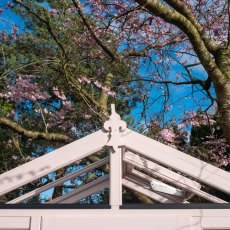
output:
{"label": "wide white outer roof beam sloping down right from the finial", "polygon": [[123,133],[125,147],[230,194],[230,173],[161,144],[130,129]]}

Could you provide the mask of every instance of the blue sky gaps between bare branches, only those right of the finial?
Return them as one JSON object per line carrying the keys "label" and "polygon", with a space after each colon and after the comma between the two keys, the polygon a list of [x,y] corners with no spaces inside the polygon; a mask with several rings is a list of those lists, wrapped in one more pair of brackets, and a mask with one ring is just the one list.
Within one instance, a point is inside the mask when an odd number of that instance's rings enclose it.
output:
{"label": "blue sky gaps between bare branches, only those right of the finial", "polygon": [[[154,74],[154,71],[152,71]],[[185,70],[183,69],[182,66],[179,64],[172,64],[170,73],[168,76],[168,80],[176,81],[175,76],[179,72],[184,72]],[[148,73],[146,75],[146,67],[142,67],[140,70],[139,74],[143,78],[151,78],[151,74],[148,76]],[[146,75],[146,76],[145,76]],[[192,70],[192,75],[195,78],[198,79],[203,79],[205,80],[207,78],[207,73],[203,69],[201,65],[195,67]],[[184,81],[184,80],[180,80]],[[159,86],[159,85],[158,85]],[[164,85],[162,84],[162,89],[157,89],[157,87],[152,88],[150,97],[151,98],[157,98],[162,94],[162,90],[165,90]],[[194,93],[192,94],[192,91],[194,89]],[[172,109],[165,114],[165,121],[171,120],[171,119],[179,119],[183,114],[184,111],[197,111],[199,108],[202,110],[205,110],[209,105],[210,105],[210,100],[204,100],[204,98],[207,99],[205,92],[201,91],[201,86],[196,85],[192,89],[191,85],[173,85],[169,84],[169,90],[170,90],[170,99],[168,101],[168,105],[172,104]],[[213,95],[214,89],[211,90]],[[157,114],[163,104],[163,98],[160,100],[156,101],[153,106],[151,107],[149,114]],[[138,108],[134,109],[132,111],[132,114],[137,118],[137,120],[140,119],[140,113],[142,111],[142,104],[138,105]],[[209,110],[211,112],[211,110]]]}

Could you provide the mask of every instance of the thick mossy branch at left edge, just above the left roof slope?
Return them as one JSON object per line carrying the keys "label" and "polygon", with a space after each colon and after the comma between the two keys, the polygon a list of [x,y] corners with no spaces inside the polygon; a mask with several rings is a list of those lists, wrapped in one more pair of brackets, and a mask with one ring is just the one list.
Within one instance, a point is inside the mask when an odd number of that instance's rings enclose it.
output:
{"label": "thick mossy branch at left edge, just above the left roof slope", "polygon": [[7,127],[16,133],[33,140],[56,141],[61,143],[69,143],[71,141],[68,136],[63,134],[42,133],[24,129],[22,126],[4,117],[0,117],[0,126]]}

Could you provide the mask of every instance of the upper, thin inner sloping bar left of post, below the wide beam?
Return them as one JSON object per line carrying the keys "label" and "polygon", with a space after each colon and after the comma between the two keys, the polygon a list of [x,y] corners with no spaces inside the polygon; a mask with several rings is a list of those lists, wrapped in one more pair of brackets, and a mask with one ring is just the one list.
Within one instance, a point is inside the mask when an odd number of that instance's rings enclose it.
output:
{"label": "upper, thin inner sloping bar left of post, below the wide beam", "polygon": [[84,168],[82,168],[82,169],[80,169],[80,170],[78,170],[76,172],[69,173],[66,176],[64,176],[64,177],[62,177],[62,178],[60,178],[58,180],[55,180],[55,181],[53,181],[53,182],[51,182],[51,183],[49,183],[47,185],[44,185],[44,186],[42,186],[40,188],[37,188],[37,189],[35,189],[35,190],[31,191],[31,192],[28,192],[25,195],[22,195],[22,196],[14,199],[14,200],[11,200],[11,201],[7,202],[7,204],[18,204],[18,203],[20,203],[20,202],[22,202],[22,201],[24,201],[24,200],[26,200],[26,199],[28,199],[30,197],[37,196],[40,193],[42,193],[44,191],[47,191],[50,188],[54,188],[57,185],[63,184],[64,182],[66,182],[68,180],[71,180],[71,179],[73,179],[73,178],[75,178],[77,176],[80,176],[82,173],[90,172],[93,169],[98,168],[98,167],[100,167],[100,166],[102,166],[102,165],[104,165],[104,164],[106,164],[108,162],[109,162],[109,157],[105,157],[104,159],[99,160],[99,161],[97,161],[97,162],[95,162],[93,164],[90,164],[89,166],[86,166],[86,167],[84,167]]}

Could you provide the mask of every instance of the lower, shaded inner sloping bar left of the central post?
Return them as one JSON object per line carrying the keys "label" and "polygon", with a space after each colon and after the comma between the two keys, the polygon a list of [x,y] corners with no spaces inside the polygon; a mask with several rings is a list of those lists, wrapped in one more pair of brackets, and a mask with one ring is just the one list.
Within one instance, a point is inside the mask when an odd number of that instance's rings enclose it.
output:
{"label": "lower, shaded inner sloping bar left of the central post", "polygon": [[72,192],[69,192],[65,195],[57,197],[54,200],[47,202],[47,204],[71,204],[75,203],[87,196],[90,196],[96,192],[99,192],[105,188],[109,187],[109,175],[100,177],[96,180],[93,180]]}

